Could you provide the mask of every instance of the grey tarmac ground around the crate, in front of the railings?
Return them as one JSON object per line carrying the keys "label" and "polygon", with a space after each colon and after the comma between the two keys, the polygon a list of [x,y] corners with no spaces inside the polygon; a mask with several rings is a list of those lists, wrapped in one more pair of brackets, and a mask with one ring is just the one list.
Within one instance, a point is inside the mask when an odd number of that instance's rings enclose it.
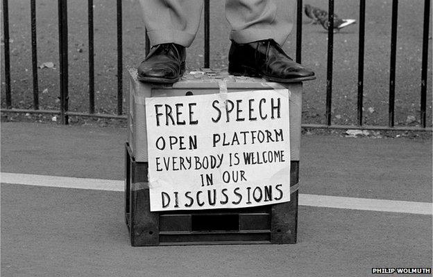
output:
{"label": "grey tarmac ground around the crate, in front of the railings", "polygon": [[[1,172],[123,179],[126,130],[2,123]],[[432,202],[431,139],[303,136],[300,193]],[[130,247],[121,192],[1,185],[2,276],[369,276],[431,267],[432,215],[300,206],[298,243]]]}

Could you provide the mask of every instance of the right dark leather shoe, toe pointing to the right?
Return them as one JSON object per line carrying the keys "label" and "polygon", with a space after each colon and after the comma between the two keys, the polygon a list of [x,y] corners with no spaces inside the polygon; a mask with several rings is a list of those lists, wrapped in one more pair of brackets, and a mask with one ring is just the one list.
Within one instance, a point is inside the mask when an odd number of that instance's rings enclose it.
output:
{"label": "right dark leather shoe, toe pointing to the right", "polygon": [[297,64],[273,39],[248,44],[232,42],[228,54],[228,73],[262,77],[272,82],[314,80],[314,72]]}

